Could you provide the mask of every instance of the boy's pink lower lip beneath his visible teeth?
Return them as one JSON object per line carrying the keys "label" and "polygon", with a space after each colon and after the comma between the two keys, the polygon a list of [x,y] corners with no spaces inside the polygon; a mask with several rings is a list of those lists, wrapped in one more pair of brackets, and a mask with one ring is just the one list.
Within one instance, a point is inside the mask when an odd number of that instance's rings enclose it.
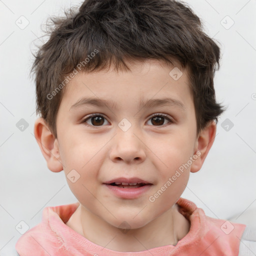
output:
{"label": "boy's pink lower lip beneath his visible teeth", "polygon": [[133,198],[139,197],[140,195],[148,191],[152,184],[147,184],[139,187],[131,187],[131,188],[122,188],[122,187],[112,186],[105,183],[104,185],[108,189],[110,189],[116,196],[127,198],[127,199],[133,199]]}

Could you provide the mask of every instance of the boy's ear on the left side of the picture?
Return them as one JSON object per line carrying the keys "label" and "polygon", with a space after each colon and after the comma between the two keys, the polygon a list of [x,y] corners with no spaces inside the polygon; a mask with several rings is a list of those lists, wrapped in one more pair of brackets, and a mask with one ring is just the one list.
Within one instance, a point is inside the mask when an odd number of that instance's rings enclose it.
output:
{"label": "boy's ear on the left side of the picture", "polygon": [[36,119],[34,123],[34,136],[47,162],[47,167],[53,172],[63,170],[58,141],[42,117]]}

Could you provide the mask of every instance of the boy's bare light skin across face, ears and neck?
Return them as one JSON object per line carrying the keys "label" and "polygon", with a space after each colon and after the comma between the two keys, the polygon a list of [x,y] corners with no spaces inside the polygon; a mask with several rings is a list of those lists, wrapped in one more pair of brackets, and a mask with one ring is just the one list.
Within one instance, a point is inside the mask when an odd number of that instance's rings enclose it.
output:
{"label": "boy's bare light skin across face, ears and neck", "polygon": [[[41,117],[34,125],[48,168],[53,172],[64,170],[65,176],[75,169],[80,175],[74,183],[66,178],[80,203],[66,224],[100,246],[124,252],[175,245],[188,233],[190,222],[175,203],[189,173],[201,168],[216,133],[215,121],[211,121],[196,136],[187,70],[175,81],[169,75],[173,67],[157,60],[133,62],[130,68],[76,74],[66,85],[59,106],[57,138]],[[181,101],[184,110],[170,106],[137,108],[140,97],[147,100],[166,95]],[[114,100],[117,108],[87,105],[70,109],[85,96]],[[101,126],[96,126],[93,118],[82,122],[91,113],[104,117]],[[164,118],[163,124],[157,125],[151,117],[154,113],[165,113],[172,122]],[[123,118],[131,124],[127,131],[118,127]],[[150,202],[149,196],[197,151],[197,159]],[[153,185],[138,198],[124,199],[102,184],[120,176],[140,177]],[[119,228],[123,221],[128,223],[127,232]]]}

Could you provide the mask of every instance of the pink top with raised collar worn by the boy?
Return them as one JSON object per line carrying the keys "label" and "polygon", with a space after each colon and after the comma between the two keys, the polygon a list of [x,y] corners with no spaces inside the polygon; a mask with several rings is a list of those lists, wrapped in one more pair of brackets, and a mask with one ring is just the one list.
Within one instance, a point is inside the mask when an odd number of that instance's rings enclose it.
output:
{"label": "pink top with raised collar worn by the boy", "polygon": [[177,244],[138,252],[118,252],[97,245],[65,223],[79,202],[45,207],[42,222],[24,233],[15,249],[20,256],[237,256],[244,224],[215,219],[184,198],[176,202],[190,221],[189,232]]}

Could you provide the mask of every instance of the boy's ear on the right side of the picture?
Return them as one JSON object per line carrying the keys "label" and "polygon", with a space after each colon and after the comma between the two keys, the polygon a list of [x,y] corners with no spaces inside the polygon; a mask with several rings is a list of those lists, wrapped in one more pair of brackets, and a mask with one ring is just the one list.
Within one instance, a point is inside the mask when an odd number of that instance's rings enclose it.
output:
{"label": "boy's ear on the right side of the picture", "polygon": [[210,121],[207,126],[199,132],[194,146],[194,155],[197,155],[197,158],[193,156],[195,160],[191,164],[191,172],[196,172],[201,168],[214,142],[215,134],[216,122],[214,120]]}

